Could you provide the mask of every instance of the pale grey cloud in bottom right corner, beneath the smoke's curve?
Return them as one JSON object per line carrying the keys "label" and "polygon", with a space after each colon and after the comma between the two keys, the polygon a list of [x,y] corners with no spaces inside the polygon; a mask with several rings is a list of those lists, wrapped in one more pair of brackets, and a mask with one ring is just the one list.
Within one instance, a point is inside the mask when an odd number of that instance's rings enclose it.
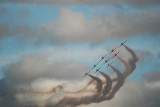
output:
{"label": "pale grey cloud in bottom right corner, beneath the smoke's curve", "polygon": [[113,100],[86,107],[159,107],[159,95],[160,87],[152,87],[148,82],[128,80]]}

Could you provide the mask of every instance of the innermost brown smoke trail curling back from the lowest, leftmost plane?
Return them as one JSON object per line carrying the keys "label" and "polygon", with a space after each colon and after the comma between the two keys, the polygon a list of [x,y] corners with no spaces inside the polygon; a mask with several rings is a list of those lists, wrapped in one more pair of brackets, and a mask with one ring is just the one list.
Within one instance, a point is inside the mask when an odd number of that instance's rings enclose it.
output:
{"label": "innermost brown smoke trail curling back from the lowest, leftmost plane", "polygon": [[58,104],[54,105],[54,107],[65,107],[65,106],[75,107],[77,105],[90,104],[90,103],[94,102],[96,100],[96,98],[101,93],[102,81],[98,77],[95,77],[92,75],[89,75],[89,76],[97,82],[97,84],[96,84],[97,92],[94,95],[80,97],[80,98],[65,97],[61,101],[59,101]]}

